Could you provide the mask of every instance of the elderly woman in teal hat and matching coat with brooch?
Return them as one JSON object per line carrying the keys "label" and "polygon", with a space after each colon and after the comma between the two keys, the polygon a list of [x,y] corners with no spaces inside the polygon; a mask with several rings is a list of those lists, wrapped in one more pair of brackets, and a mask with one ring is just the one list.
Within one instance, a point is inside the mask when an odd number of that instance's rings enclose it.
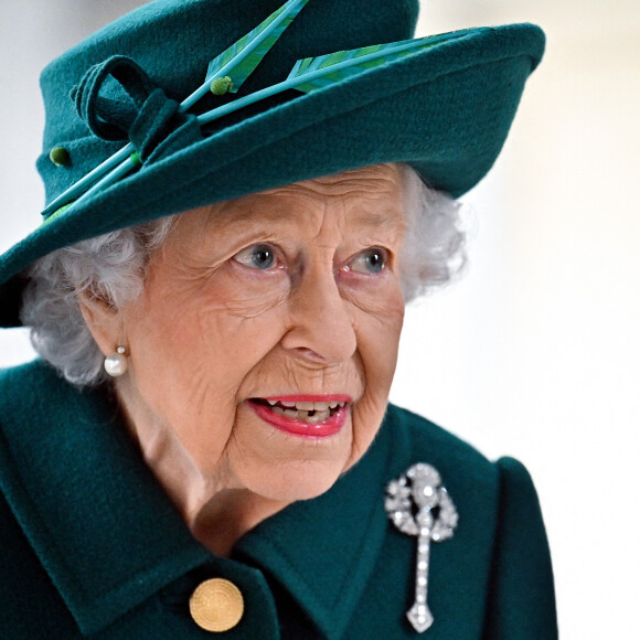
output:
{"label": "elderly woman in teal hat and matching coat with brooch", "polygon": [[3,638],[556,636],[526,471],[387,404],[543,38],[416,13],[158,0],[45,70],[44,223],[0,262],[42,355],[0,375]]}

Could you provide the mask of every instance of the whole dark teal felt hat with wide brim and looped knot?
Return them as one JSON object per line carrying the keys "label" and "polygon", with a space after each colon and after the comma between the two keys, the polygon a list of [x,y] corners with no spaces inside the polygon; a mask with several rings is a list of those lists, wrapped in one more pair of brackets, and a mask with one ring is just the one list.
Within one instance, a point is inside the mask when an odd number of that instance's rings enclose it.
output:
{"label": "whole dark teal felt hat with wide brim and looped knot", "polygon": [[[383,162],[406,162],[454,196],[489,171],[542,57],[537,26],[470,29],[414,44],[404,41],[417,0],[282,2],[157,0],[44,70],[38,168],[45,220],[0,257],[0,326],[21,324],[24,269],[88,237]],[[291,13],[286,21],[282,11]],[[276,35],[257,45],[252,64],[241,64],[250,67],[246,78],[237,70],[214,73],[212,90],[185,105],[207,74],[247,47],[257,25]],[[344,51],[351,53],[323,57]],[[329,70],[335,62],[343,64]],[[324,67],[306,86],[281,84],[292,70]],[[228,111],[222,117],[221,107]],[[214,109],[215,119],[203,119]],[[90,180],[105,161],[108,173]]]}

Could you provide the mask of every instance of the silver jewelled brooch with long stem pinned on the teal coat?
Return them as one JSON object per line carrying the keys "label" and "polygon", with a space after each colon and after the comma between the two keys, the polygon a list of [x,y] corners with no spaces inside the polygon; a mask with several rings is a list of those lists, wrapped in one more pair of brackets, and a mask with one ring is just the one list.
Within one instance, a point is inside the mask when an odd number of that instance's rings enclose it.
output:
{"label": "silver jewelled brooch with long stem pinned on the teal coat", "polygon": [[430,465],[418,462],[386,488],[384,506],[395,526],[408,535],[418,536],[416,558],[416,599],[407,611],[414,629],[422,633],[434,622],[427,606],[430,542],[441,542],[454,535],[458,512],[442,487],[440,474]]}

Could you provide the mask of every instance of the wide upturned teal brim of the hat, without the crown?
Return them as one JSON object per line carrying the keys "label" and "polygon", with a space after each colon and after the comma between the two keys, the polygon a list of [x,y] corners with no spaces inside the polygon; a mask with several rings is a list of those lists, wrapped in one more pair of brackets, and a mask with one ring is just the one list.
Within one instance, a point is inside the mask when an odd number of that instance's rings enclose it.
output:
{"label": "wide upturned teal brim of the hat, without the crown", "polygon": [[544,51],[532,24],[472,29],[220,129],[87,199],[0,258],[0,326],[31,263],[63,246],[284,184],[406,162],[459,196],[493,166]]}

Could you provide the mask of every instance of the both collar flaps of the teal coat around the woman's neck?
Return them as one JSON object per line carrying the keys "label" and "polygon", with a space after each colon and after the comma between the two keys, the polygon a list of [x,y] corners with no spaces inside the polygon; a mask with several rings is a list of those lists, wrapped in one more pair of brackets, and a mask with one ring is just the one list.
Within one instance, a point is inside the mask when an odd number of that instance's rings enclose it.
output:
{"label": "both collar flaps of the teal coat around the woman's neck", "polygon": [[[212,558],[104,394],[31,363],[0,375],[0,483],[83,632]],[[345,629],[382,546],[390,426],[330,491],[263,522],[224,561],[268,572],[330,639]]]}

